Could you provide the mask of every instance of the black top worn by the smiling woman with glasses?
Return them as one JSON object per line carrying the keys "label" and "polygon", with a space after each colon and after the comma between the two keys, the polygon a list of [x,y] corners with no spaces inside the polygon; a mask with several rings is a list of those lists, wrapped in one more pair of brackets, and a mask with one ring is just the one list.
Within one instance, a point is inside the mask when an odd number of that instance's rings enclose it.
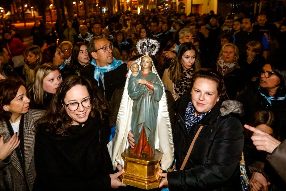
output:
{"label": "black top worn by the smiling woman with glasses", "polygon": [[37,129],[33,190],[108,190],[113,173],[108,124],[95,117],[65,134]]}

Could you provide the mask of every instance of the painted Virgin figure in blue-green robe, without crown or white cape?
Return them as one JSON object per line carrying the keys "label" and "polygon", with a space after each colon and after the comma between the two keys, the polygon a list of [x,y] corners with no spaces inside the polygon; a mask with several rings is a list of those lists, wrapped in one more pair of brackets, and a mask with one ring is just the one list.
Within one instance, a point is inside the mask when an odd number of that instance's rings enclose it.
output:
{"label": "painted Virgin figure in blue-green robe, without crown or white cape", "polygon": [[[159,101],[163,95],[163,86],[158,76],[152,73],[152,63],[149,56],[141,59],[141,71],[132,75],[128,82],[129,96],[134,99],[132,107],[131,131],[135,146],[132,153],[136,156],[149,157],[155,153],[155,131]],[[136,66],[133,64],[132,66]],[[130,69],[134,69],[130,66]],[[138,67],[139,69],[139,67]]]}

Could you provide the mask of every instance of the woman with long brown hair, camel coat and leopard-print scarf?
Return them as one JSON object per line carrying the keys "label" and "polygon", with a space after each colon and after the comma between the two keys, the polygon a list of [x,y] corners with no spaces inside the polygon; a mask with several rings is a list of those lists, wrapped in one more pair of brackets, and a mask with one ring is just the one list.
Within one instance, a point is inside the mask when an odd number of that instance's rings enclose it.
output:
{"label": "woman with long brown hair, camel coat and leopard-print scarf", "polygon": [[200,68],[200,61],[196,47],[192,43],[183,43],[170,68],[165,69],[162,82],[166,89],[172,92],[174,99],[178,99],[189,88],[192,75]]}

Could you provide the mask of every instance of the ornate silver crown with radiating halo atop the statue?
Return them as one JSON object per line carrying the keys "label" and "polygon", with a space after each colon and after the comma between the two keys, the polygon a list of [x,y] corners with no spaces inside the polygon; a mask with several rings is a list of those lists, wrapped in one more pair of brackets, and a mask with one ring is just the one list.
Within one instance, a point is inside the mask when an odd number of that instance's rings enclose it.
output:
{"label": "ornate silver crown with radiating halo atop the statue", "polygon": [[146,38],[138,40],[136,48],[139,54],[155,56],[155,54],[158,52],[160,48],[160,44],[157,40]]}

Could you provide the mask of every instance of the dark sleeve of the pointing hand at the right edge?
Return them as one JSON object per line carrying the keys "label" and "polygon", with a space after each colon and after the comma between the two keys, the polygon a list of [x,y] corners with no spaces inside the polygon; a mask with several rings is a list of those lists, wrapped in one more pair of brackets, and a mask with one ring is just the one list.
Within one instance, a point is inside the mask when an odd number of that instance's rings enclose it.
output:
{"label": "dark sleeve of the pointing hand at the right edge", "polygon": [[267,156],[267,160],[286,183],[286,141],[283,141],[274,151]]}

